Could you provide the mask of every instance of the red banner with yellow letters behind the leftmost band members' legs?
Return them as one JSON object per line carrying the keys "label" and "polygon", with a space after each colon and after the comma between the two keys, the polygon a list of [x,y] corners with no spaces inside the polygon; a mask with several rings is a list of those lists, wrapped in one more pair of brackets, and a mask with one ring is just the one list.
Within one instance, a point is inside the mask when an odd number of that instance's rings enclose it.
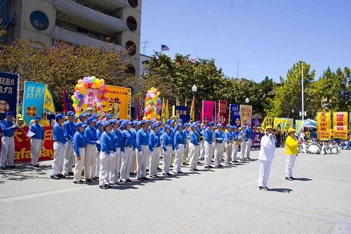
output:
{"label": "red banner with yellow letters behind the leftmost band members' legs", "polygon": [[[22,127],[27,133],[28,126]],[[1,136],[0,136],[1,138]],[[15,157],[14,162],[30,162],[30,138],[20,130],[16,130],[13,135],[15,140]],[[1,144],[0,144],[1,148]],[[53,126],[44,126],[44,150],[41,150],[39,160],[52,160],[53,159]]]}

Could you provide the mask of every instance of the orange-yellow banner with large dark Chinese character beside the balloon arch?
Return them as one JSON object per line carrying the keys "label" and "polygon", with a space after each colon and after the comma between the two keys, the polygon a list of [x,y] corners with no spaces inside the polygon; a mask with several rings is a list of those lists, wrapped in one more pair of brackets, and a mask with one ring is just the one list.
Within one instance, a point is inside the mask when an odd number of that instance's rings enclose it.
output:
{"label": "orange-yellow banner with large dark Chinese character beside the balloon arch", "polygon": [[[131,98],[131,90],[124,87],[106,85],[109,93],[109,100],[107,100],[107,110],[115,110],[112,113],[115,118],[129,119],[129,101]],[[110,110],[110,111],[111,111]],[[118,116],[117,116],[118,114]]]}

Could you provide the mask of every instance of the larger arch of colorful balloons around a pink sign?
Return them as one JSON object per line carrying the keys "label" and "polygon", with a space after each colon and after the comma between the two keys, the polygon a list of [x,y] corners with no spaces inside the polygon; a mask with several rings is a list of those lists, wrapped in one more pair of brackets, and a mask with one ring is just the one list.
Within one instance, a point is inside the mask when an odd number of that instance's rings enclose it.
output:
{"label": "larger arch of colorful balloons around a pink sign", "polygon": [[107,110],[106,103],[108,100],[108,92],[105,86],[104,79],[96,79],[96,77],[84,77],[78,80],[78,84],[74,87],[74,95],[71,97],[73,100],[73,108],[78,116],[81,112],[84,112],[88,106],[86,105],[84,98],[86,97],[86,89],[98,89],[98,103],[97,111],[101,116],[105,115]]}

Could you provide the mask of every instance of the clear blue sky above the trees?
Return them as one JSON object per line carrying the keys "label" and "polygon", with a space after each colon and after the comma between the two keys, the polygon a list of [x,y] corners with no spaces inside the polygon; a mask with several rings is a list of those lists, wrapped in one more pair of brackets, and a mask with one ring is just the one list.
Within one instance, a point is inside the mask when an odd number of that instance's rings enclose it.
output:
{"label": "clear blue sky above the trees", "polygon": [[[350,0],[143,0],[146,54],[214,58],[228,77],[285,77],[298,60],[317,68],[351,67]],[[143,44],[141,45],[143,46]],[[140,48],[143,53],[143,48]]]}

